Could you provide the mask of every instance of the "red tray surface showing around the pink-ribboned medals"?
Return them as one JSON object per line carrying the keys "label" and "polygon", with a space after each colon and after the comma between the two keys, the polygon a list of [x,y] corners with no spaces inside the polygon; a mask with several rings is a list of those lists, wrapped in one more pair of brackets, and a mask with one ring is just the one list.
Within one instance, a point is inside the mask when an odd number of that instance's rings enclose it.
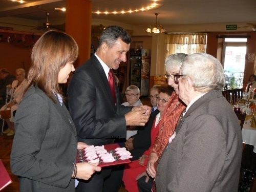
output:
{"label": "red tray surface showing around the pink-ribboned medals", "polygon": [[[104,145],[105,150],[108,151],[108,152],[111,151],[111,150],[115,150],[115,148],[117,148],[117,147],[120,147],[119,144],[117,144],[117,143]],[[78,158],[81,155],[82,154],[79,155],[79,153],[77,151],[76,162],[77,163],[79,163],[79,162],[88,162],[86,160],[86,158],[82,158],[82,159]],[[99,163],[98,166],[105,167],[105,166],[118,165],[118,164],[123,164],[123,163],[130,163],[130,162],[131,162],[130,159],[124,159],[124,160],[118,159],[118,160],[110,162],[110,163]]]}

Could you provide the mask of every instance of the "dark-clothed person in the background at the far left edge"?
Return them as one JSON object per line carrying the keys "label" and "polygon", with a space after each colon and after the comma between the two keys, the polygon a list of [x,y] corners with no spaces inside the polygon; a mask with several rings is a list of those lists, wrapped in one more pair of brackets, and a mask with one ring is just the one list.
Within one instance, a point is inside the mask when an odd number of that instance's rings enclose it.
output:
{"label": "dark-clothed person in the background at the far left edge", "polygon": [[6,87],[9,84],[12,84],[14,80],[16,80],[16,77],[12,74],[7,69],[1,69],[0,70],[0,79],[1,79],[1,84],[0,84],[0,108],[5,104],[6,101]]}

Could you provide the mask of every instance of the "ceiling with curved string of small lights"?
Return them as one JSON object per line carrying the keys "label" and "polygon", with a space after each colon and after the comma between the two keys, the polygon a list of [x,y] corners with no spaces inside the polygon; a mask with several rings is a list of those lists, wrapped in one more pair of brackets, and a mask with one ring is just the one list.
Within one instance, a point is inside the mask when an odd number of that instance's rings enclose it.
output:
{"label": "ceiling with curved string of small lights", "polygon": [[[1,17],[20,17],[32,20],[44,20],[49,12],[49,20],[59,19],[65,22],[65,13],[54,10],[66,6],[65,0],[24,0],[19,4],[7,0],[0,1]],[[76,0],[73,0],[76,1]],[[93,11],[140,9],[152,4],[152,0],[92,0]],[[97,21],[111,20],[125,25],[158,24],[216,24],[216,23],[256,23],[256,0],[159,0],[159,8],[127,14],[92,14]]]}

